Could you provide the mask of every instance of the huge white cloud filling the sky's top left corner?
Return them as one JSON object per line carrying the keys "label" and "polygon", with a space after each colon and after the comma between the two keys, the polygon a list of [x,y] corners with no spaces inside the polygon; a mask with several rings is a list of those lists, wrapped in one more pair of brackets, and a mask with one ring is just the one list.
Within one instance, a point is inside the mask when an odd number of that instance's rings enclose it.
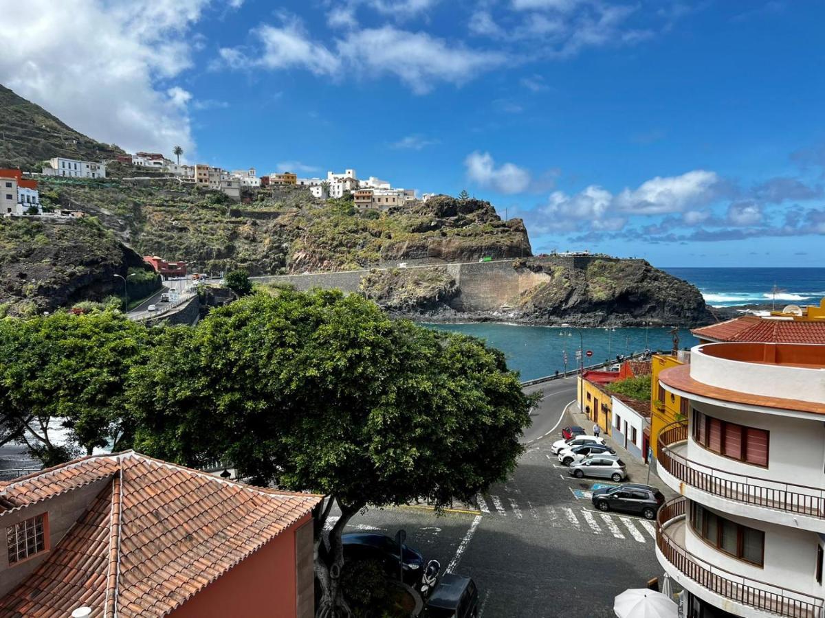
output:
{"label": "huge white cloud filling the sky's top left corner", "polygon": [[169,81],[191,66],[189,30],[208,3],[7,3],[0,82],[92,138],[132,151],[178,144],[191,152],[191,96]]}

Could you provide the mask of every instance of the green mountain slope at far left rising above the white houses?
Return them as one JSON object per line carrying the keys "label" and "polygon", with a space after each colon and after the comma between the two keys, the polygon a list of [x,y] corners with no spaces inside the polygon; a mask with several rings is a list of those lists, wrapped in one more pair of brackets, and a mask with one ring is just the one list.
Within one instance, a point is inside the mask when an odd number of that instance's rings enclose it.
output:
{"label": "green mountain slope at far left rising above the white houses", "polygon": [[0,85],[0,167],[40,171],[40,162],[58,155],[101,161],[122,153],[119,147],[78,133],[40,105]]}

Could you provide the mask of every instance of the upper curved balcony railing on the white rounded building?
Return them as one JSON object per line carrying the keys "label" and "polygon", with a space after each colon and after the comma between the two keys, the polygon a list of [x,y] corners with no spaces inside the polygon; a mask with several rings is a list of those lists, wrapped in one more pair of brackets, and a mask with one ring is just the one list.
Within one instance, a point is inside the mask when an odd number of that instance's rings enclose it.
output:
{"label": "upper curved balcony railing on the white rounded building", "polygon": [[660,466],[687,485],[728,500],[825,518],[825,489],[740,475],[693,461],[673,448],[687,438],[686,421],[667,425],[659,432],[656,456]]}

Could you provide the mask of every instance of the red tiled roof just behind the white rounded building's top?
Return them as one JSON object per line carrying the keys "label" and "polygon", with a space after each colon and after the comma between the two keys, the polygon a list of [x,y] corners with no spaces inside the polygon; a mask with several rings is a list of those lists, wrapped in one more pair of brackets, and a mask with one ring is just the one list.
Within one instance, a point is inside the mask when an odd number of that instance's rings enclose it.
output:
{"label": "red tiled roof just behind the white rounded building's top", "polygon": [[711,341],[761,342],[773,344],[825,344],[825,321],[771,320],[742,316],[691,330]]}

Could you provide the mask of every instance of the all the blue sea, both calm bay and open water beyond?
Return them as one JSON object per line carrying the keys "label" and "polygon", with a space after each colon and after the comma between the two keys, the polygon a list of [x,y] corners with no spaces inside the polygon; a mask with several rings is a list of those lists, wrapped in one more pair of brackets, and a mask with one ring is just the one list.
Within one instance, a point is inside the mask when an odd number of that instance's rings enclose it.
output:
{"label": "all the blue sea, both calm bay and open water beyond", "polygon": [[[774,285],[776,307],[790,303],[818,304],[825,297],[825,268],[672,268],[668,273],[693,283],[714,307],[732,307],[748,303],[771,302]],[[576,367],[576,350],[580,340],[576,330],[563,327],[522,326],[481,322],[475,324],[428,325],[486,339],[502,350],[507,366],[521,373],[522,380],[533,380],[555,371]],[[615,358],[616,354],[641,352],[644,349],[672,349],[668,328],[582,329],[585,351],[592,351],[587,364]],[[679,347],[691,348],[699,343],[689,330],[679,333]]]}

